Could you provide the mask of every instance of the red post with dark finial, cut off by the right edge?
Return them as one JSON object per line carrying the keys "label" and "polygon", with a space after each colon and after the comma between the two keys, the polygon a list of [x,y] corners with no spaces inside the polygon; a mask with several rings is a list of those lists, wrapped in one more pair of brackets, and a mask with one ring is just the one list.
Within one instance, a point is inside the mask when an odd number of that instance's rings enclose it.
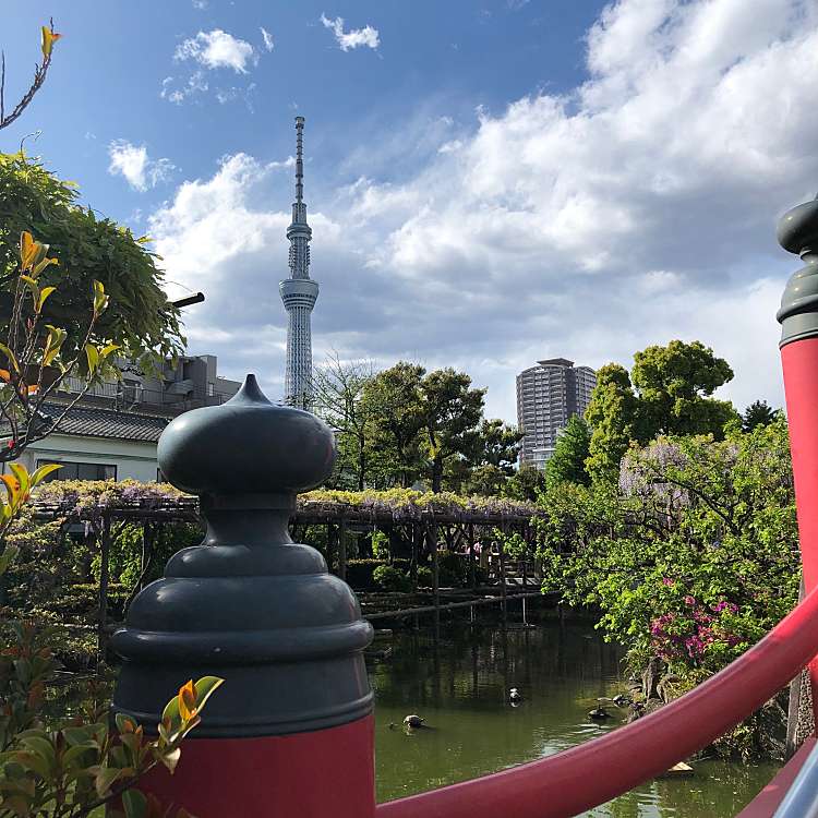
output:
{"label": "red post with dark finial, cut off by the right edge", "polygon": [[[798,509],[804,588],[818,586],[818,201],[785,213],[778,227],[779,243],[802,257],[806,266],[787,281],[778,320],[782,325],[790,447]],[[813,707],[818,723],[818,661],[809,664]]]}

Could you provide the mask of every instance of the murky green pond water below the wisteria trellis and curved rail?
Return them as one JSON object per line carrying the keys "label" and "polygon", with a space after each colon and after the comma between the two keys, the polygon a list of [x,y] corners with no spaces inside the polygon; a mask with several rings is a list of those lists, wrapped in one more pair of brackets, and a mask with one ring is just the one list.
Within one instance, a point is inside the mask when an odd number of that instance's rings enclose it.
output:
{"label": "murky green pond water below the wisteria trellis and curved rail", "polygon": [[[375,690],[375,754],[380,802],[424,792],[550,756],[624,723],[625,711],[600,725],[588,718],[599,696],[626,689],[619,653],[590,625],[543,622],[534,629],[452,626],[396,631],[370,660]],[[518,687],[516,708],[507,691]],[[405,734],[418,713],[432,730]],[[398,729],[389,729],[389,724]],[[672,742],[673,736],[667,736]],[[611,818],[734,816],[773,777],[774,765],[721,760],[694,765],[688,779],[661,779],[587,813]]]}

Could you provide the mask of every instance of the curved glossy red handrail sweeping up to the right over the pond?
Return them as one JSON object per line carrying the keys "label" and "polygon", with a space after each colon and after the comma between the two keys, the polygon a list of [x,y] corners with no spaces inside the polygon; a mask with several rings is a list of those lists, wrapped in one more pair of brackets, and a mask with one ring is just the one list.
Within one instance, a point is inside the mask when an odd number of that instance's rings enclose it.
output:
{"label": "curved glossy red handrail sweeping up to the right over the pond", "polygon": [[747,718],[818,654],[818,589],[744,655],[627,726],[564,753],[380,804],[377,818],[568,818],[655,778]]}

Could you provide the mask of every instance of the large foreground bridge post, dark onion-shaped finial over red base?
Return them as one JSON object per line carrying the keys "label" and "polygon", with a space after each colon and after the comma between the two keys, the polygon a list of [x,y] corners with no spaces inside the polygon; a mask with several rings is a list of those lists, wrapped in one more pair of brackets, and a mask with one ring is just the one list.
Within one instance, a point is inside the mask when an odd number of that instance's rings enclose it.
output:
{"label": "large foreground bridge post, dark onion-shaped finial over red base", "polygon": [[157,768],[141,789],[199,818],[373,818],[372,626],[287,531],[296,492],[332,471],[332,432],[270,404],[250,375],[227,404],[173,420],[158,456],[171,483],[200,495],[207,533],[115,634],[125,661],[113,709],[155,730],[189,678],[225,684],[176,773]]}

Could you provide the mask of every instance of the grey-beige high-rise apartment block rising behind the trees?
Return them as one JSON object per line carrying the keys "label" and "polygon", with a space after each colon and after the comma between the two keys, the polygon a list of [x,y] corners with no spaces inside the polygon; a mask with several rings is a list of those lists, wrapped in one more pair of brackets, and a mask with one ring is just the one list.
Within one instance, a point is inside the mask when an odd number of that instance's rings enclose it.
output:
{"label": "grey-beige high-rise apartment block rising behind the trees", "polygon": [[584,414],[597,385],[590,366],[565,358],[538,361],[517,375],[517,425],[524,433],[520,462],[544,469],[556,437],[573,414]]}

